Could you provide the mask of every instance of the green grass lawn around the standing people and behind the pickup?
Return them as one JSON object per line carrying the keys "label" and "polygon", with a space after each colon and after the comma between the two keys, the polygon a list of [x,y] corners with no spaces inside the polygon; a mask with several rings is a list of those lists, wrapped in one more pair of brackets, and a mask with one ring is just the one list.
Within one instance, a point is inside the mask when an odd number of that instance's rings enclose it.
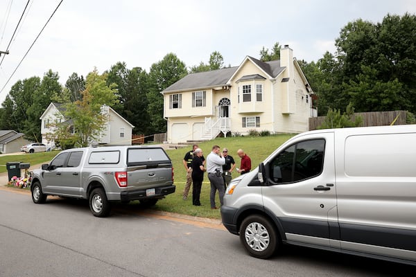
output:
{"label": "green grass lawn around the standing people and behind the pickup", "polygon": [[[228,153],[236,161],[237,166],[240,166],[240,158],[237,155],[237,150],[240,148],[245,151],[246,154],[252,160],[252,168],[256,168],[261,161],[266,159],[276,148],[282,143],[287,141],[293,136],[293,134],[279,134],[275,136],[237,136],[231,138],[218,138],[212,141],[206,141],[199,143],[199,147],[204,152],[204,156],[207,157],[213,145],[219,145],[220,148],[228,148]],[[193,215],[198,217],[210,217],[220,218],[219,210],[211,210],[209,205],[209,180],[207,175],[204,176],[204,182],[202,183],[202,190],[200,201],[202,206],[192,205],[192,190],[189,193],[187,200],[182,200],[182,191],[184,190],[184,184],[186,181],[186,172],[182,164],[182,160],[187,151],[191,150],[191,145],[187,148],[169,149],[166,150],[169,157],[173,161],[174,178],[176,191],[171,195],[167,195],[165,199],[157,202],[154,207],[159,211],[168,211],[171,213],[180,213],[184,215]],[[31,163],[31,165],[37,163],[46,163],[55,157],[58,152],[43,152],[33,154],[21,154],[17,156],[4,156],[0,157],[0,164],[6,165],[8,161],[22,161],[25,163]],[[3,170],[3,171],[1,171]],[[6,166],[0,167],[0,172],[6,172]],[[233,177],[238,176],[238,173],[234,172]],[[219,206],[218,193],[216,195],[216,203]],[[130,205],[137,205],[138,202],[131,202]]]}

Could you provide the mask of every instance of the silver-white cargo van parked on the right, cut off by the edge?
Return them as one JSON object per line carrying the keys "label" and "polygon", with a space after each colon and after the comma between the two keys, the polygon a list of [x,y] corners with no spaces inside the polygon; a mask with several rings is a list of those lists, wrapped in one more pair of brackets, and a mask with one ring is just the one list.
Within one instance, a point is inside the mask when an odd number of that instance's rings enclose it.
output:
{"label": "silver-white cargo van parked on the right, cut off by the edge", "polygon": [[416,125],[298,134],[232,180],[221,217],[257,258],[286,243],[416,265]]}

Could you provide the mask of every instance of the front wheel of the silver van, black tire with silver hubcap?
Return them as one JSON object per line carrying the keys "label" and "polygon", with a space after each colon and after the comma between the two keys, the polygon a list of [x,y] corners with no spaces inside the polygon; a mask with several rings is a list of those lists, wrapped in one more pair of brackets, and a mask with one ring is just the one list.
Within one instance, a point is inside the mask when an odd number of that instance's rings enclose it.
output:
{"label": "front wheel of the silver van, black tire with silver hubcap", "polygon": [[240,241],[251,256],[270,258],[280,247],[275,226],[262,215],[250,215],[240,226]]}

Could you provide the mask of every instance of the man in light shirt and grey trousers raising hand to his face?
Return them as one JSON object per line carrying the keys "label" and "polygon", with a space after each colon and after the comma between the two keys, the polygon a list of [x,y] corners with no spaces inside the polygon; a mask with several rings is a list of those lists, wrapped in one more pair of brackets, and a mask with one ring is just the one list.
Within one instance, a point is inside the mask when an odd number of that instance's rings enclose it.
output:
{"label": "man in light shirt and grey trousers raising hand to his face", "polygon": [[217,209],[215,204],[215,194],[218,190],[218,195],[220,196],[220,204],[223,206],[224,199],[224,179],[223,179],[223,165],[225,164],[225,159],[220,152],[220,147],[214,145],[212,147],[211,153],[207,156],[207,172],[208,179],[211,183],[211,192],[209,193],[209,200],[211,202],[211,209]]}

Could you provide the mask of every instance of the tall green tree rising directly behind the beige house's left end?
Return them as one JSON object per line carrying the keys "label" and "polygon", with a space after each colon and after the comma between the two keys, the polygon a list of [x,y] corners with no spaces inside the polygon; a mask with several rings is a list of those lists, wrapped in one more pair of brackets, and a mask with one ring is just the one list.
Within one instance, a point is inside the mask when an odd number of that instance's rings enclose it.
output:
{"label": "tall green tree rising directly behind the beige house's left end", "polygon": [[164,89],[187,75],[187,67],[173,53],[168,53],[163,60],[152,64],[149,71],[148,114],[152,134],[166,132],[166,120],[163,117]]}

